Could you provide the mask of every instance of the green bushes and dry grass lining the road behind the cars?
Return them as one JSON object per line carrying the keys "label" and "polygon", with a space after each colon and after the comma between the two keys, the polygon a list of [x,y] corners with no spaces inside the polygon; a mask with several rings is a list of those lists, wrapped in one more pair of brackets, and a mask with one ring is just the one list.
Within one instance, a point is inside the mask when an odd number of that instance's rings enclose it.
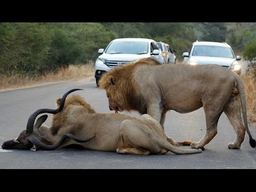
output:
{"label": "green bushes and dry grass lining the road behind the cars", "polygon": [[114,38],[168,43],[177,59],[192,42],[227,42],[249,63],[243,74],[248,118],[256,126],[256,23],[254,22],[0,22],[0,91],[94,76],[98,49]]}

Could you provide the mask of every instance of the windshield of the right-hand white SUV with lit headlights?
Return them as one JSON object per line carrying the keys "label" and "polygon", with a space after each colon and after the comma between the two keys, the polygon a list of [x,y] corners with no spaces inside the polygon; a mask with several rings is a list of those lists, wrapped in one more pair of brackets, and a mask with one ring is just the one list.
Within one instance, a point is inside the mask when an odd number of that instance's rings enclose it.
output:
{"label": "windshield of the right-hand white SUV with lit headlights", "polygon": [[234,54],[230,47],[222,46],[206,46],[196,45],[194,47],[193,56],[206,56],[206,57],[223,57],[223,58],[234,58]]}

